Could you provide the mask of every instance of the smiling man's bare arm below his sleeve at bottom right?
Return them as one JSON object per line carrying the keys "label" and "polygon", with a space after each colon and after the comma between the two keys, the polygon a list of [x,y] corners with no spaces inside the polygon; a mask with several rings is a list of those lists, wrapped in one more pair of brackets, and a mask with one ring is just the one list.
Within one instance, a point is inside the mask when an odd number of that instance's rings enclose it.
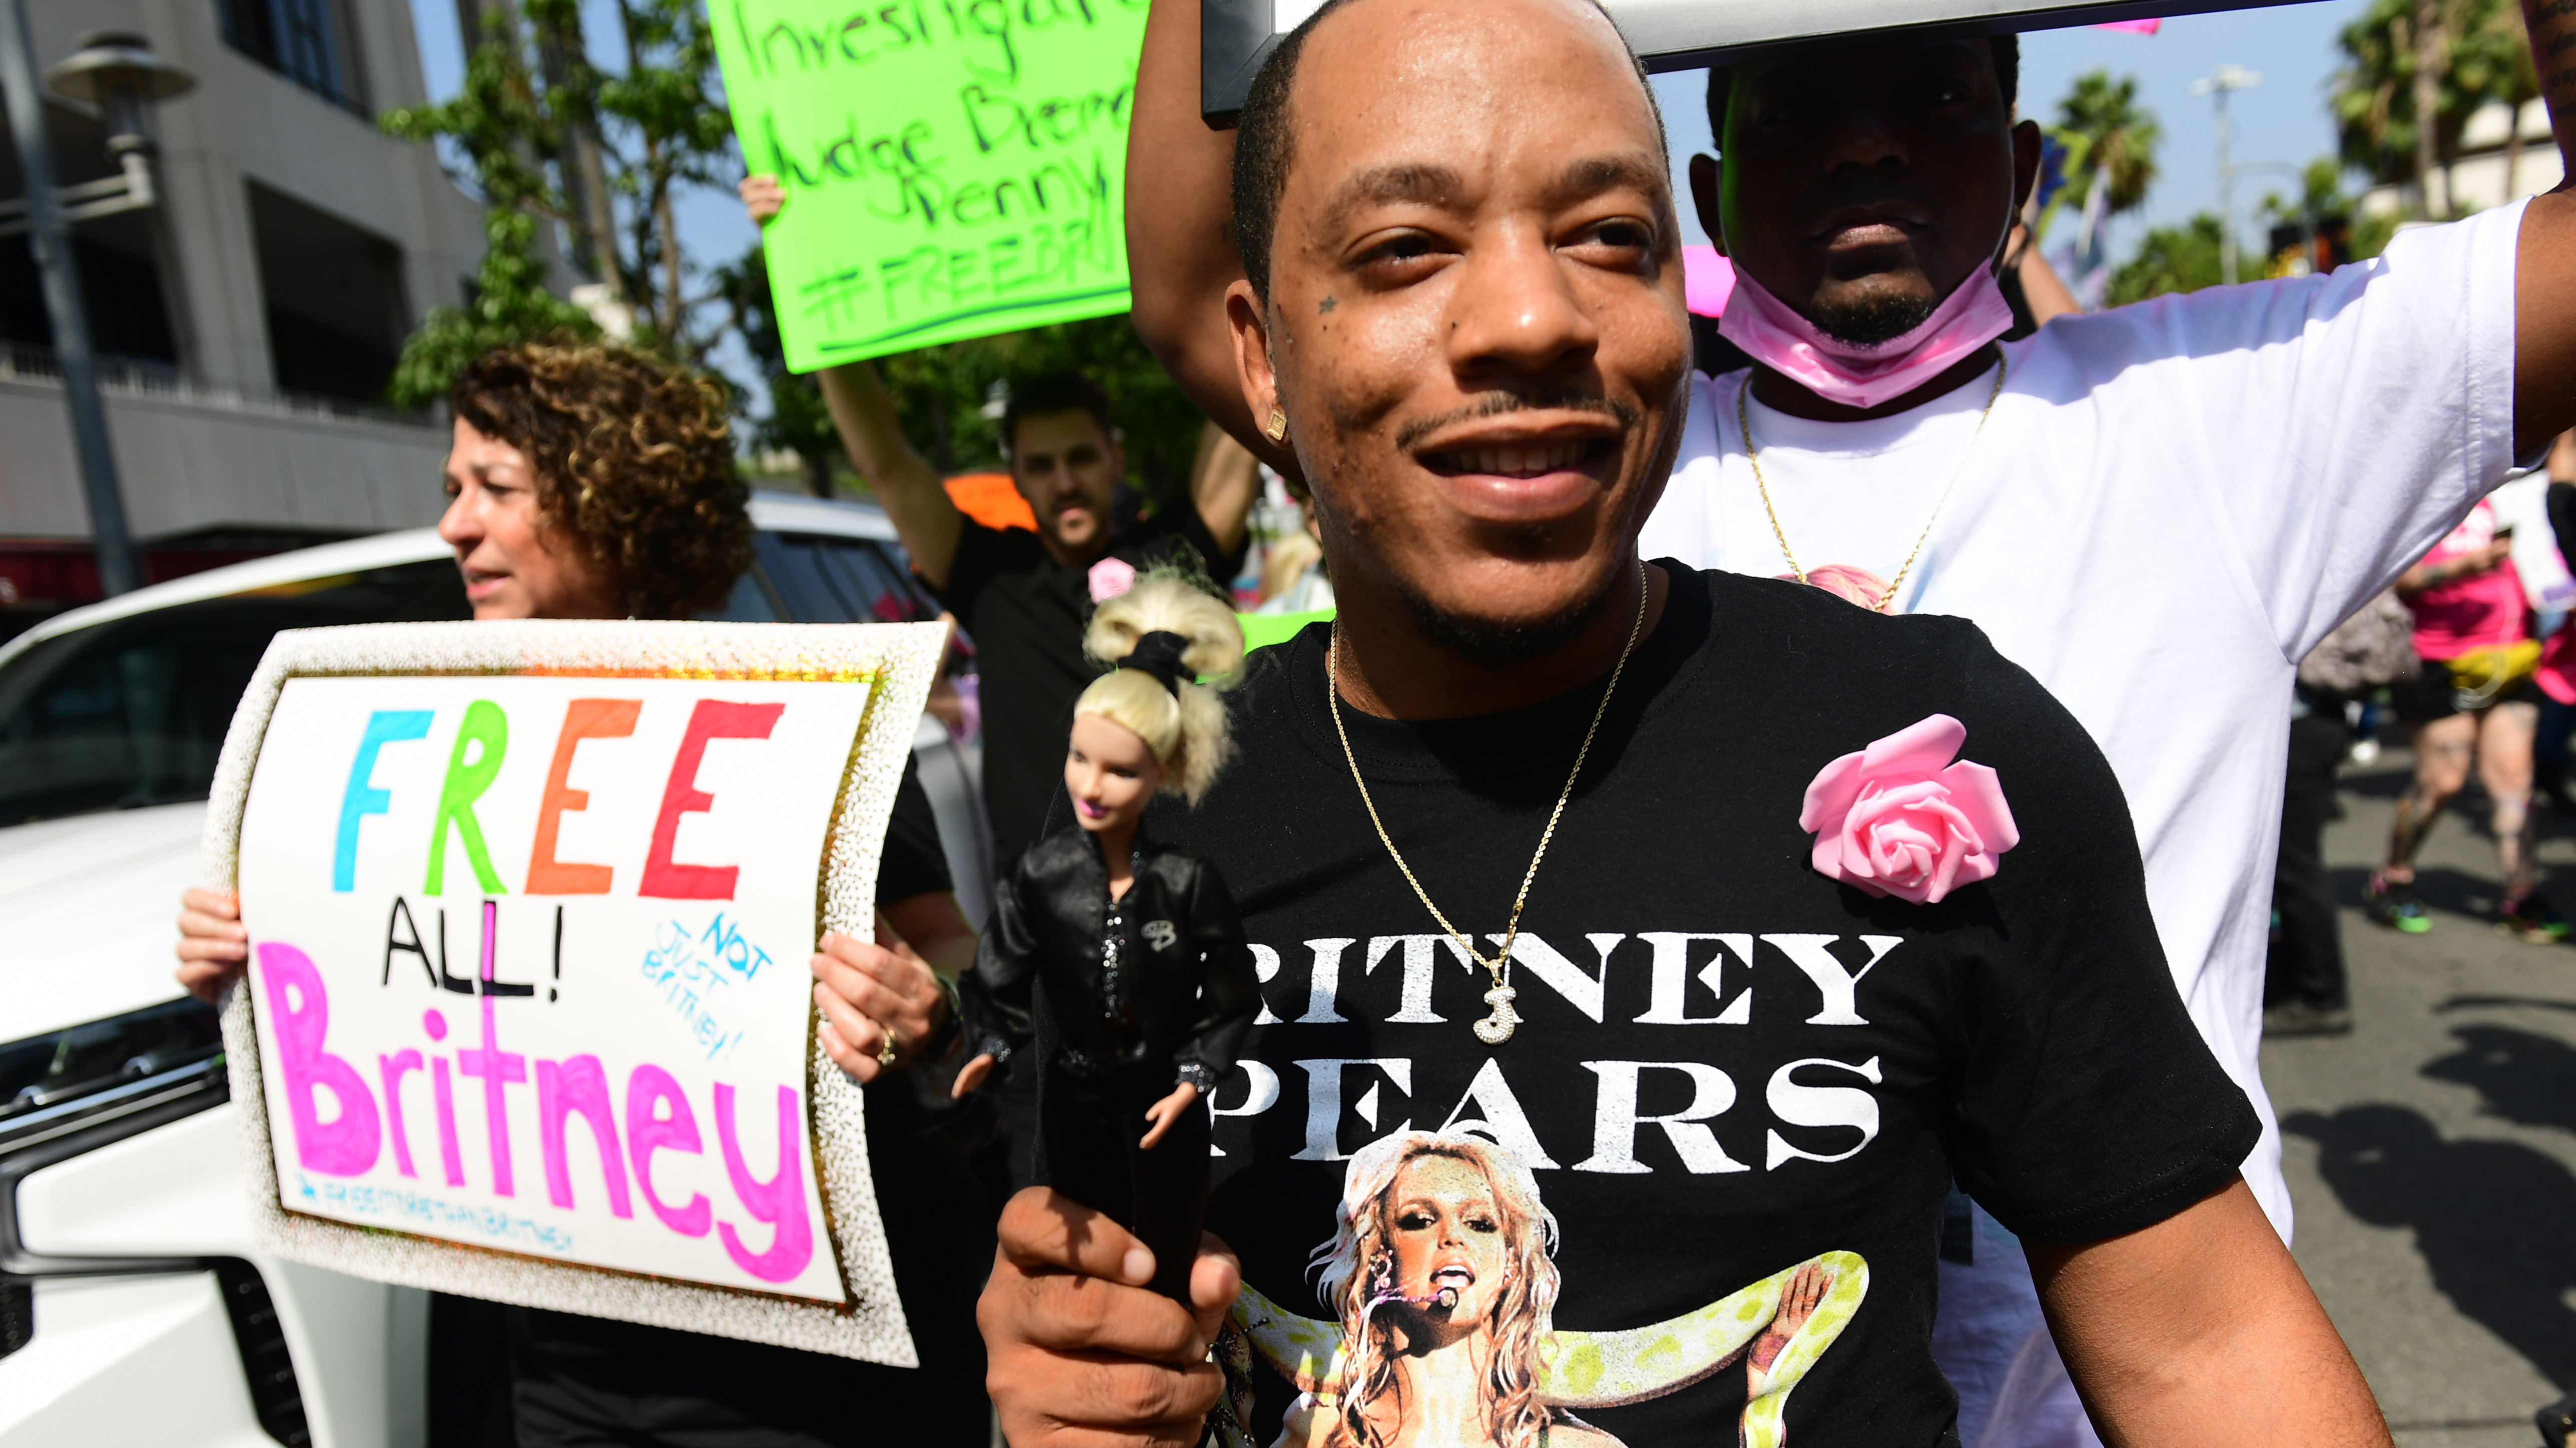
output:
{"label": "smiling man's bare arm below his sleeve at bottom right", "polygon": [[2370,1384],[2244,1180],[2128,1237],[2025,1247],[2110,1448],[2388,1448]]}

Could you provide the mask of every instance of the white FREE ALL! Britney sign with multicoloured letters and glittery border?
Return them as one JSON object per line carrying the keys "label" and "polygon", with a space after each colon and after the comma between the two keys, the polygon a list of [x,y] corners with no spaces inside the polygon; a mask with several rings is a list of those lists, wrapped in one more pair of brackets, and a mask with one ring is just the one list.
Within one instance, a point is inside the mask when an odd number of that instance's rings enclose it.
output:
{"label": "white FREE ALL! Britney sign with multicoloured letters and glittery border", "polygon": [[866,935],[938,624],[278,634],[206,879],[278,1255],[912,1366],[806,956]]}

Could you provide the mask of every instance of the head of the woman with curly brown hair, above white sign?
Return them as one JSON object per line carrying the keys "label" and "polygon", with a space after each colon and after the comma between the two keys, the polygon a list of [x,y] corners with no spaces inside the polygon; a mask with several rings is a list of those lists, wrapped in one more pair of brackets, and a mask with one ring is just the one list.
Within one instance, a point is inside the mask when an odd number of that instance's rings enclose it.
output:
{"label": "head of the woman with curly brown hair, above white sign", "polygon": [[598,343],[495,348],[448,386],[438,536],[477,618],[688,618],[752,567],[724,389]]}

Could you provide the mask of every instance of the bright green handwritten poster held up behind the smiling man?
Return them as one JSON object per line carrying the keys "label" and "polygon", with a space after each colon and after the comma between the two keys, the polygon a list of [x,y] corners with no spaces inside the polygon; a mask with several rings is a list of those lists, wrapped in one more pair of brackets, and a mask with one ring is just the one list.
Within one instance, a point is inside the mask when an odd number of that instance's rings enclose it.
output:
{"label": "bright green handwritten poster held up behind the smiling man", "polygon": [[1128,309],[1146,0],[708,5],[793,371]]}

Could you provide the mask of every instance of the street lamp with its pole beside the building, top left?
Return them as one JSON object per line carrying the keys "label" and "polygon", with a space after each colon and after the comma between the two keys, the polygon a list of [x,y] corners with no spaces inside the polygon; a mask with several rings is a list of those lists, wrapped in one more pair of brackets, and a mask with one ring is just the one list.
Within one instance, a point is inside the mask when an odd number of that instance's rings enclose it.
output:
{"label": "street lamp with its pole beside the building, top left", "polygon": [[116,487],[108,412],[98,399],[98,356],[90,345],[90,312],[80,299],[72,222],[142,211],[157,201],[152,106],[188,90],[196,77],[155,57],[142,36],[93,31],[80,36],[80,52],[49,70],[46,80],[54,82],[57,93],[98,106],[118,175],[54,188],[44,93],[36,88],[36,41],[26,23],[26,0],[8,0],[8,10],[0,13],[0,90],[5,90],[8,126],[18,142],[26,198],[0,206],[0,237],[23,232],[36,250],[44,309],[54,319],[62,399],[72,412],[72,448],[80,453],[80,484],[90,500],[98,585],[113,598],[131,593],[142,575],[134,567],[134,536],[126,531],[126,502]]}

